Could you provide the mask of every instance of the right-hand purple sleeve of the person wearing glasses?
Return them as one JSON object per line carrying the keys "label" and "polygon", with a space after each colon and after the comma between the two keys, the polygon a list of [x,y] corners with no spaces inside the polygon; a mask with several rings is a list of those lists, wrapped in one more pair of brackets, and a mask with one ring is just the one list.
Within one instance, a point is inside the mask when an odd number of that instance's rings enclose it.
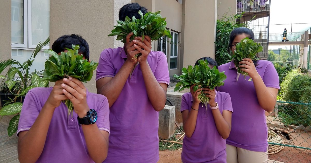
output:
{"label": "right-hand purple sleeve of the person wearing glasses", "polygon": [[266,87],[280,89],[279,75],[277,74],[272,63],[267,65],[262,80]]}

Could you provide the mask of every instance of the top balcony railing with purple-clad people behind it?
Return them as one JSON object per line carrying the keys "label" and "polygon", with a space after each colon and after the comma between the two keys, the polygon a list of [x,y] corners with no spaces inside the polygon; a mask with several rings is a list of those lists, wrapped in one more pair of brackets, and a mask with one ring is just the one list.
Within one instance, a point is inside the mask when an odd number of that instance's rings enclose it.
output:
{"label": "top balcony railing with purple-clad people behind it", "polygon": [[270,0],[238,0],[237,12],[262,12],[270,10]]}

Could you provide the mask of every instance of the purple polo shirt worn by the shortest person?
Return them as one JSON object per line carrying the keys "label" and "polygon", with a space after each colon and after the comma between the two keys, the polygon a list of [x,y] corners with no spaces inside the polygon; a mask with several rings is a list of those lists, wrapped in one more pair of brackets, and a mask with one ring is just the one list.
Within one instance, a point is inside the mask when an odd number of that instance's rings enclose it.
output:
{"label": "purple polo shirt worn by the shortest person", "polygon": [[[218,103],[219,111],[232,110],[231,98],[228,93],[217,92],[215,101]],[[191,109],[193,100],[191,93],[183,94],[180,112]],[[193,162],[226,162],[226,140],[217,131],[215,120],[209,104],[207,107],[202,103],[199,105],[197,123],[191,137],[183,138],[183,151],[181,160],[184,163]]]}

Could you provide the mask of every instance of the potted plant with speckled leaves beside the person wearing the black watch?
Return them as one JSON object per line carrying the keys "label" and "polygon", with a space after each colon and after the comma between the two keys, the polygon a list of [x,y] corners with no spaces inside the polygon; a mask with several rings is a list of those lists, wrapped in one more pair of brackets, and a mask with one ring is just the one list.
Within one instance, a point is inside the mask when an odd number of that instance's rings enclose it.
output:
{"label": "potted plant with speckled leaves beside the person wearing the black watch", "polygon": [[[39,42],[30,59],[23,64],[12,59],[1,62],[5,65],[0,66],[0,73],[6,68],[9,69],[6,75],[0,75],[0,79],[2,79],[2,83],[0,83],[2,85],[2,91],[4,90],[5,92],[8,89],[8,93],[4,93],[4,99],[1,97],[4,106],[0,110],[0,115],[15,115],[12,117],[9,127],[7,128],[9,136],[12,136],[17,131],[23,98],[26,93],[35,87],[47,87],[49,84],[48,80],[40,81],[41,77],[39,75],[41,75],[44,70],[30,72],[30,67],[35,61],[36,55],[49,43],[49,41],[50,39],[47,38],[44,42]],[[16,76],[18,77],[16,78]]]}

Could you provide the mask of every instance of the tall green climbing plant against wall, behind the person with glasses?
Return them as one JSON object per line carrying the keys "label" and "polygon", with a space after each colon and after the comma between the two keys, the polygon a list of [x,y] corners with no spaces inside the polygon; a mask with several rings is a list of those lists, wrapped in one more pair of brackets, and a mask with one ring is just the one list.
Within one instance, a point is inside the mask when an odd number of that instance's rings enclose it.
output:
{"label": "tall green climbing plant against wall, behind the person with glasses", "polygon": [[241,17],[243,13],[234,16],[227,16],[227,13],[216,22],[215,57],[218,65],[228,63],[229,60],[232,60],[230,53],[228,53],[231,31],[234,28],[247,26],[247,24],[235,22],[235,20]]}

